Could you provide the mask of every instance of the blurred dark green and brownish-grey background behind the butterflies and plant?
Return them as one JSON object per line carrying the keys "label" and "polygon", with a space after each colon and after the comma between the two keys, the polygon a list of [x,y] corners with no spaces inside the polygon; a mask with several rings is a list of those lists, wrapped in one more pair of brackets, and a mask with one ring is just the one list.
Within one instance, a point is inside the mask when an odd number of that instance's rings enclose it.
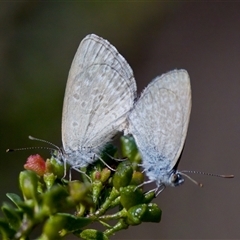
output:
{"label": "blurred dark green and brownish-grey background behind the butterflies and plant", "polygon": [[7,148],[61,146],[61,111],[68,71],[82,40],[95,33],[127,59],[138,92],[157,75],[184,68],[193,107],[179,169],[235,174],[192,176],[155,202],[159,224],[145,223],[112,239],[240,238],[240,3],[239,2],[1,2],[0,202],[18,190],[33,153]]}

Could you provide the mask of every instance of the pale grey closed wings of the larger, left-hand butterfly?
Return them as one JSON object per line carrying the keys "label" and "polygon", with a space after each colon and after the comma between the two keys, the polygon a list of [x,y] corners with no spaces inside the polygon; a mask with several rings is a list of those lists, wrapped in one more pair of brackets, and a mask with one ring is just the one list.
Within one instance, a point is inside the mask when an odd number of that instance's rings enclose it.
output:
{"label": "pale grey closed wings of the larger, left-hand butterfly", "polygon": [[135,98],[136,83],[126,60],[108,41],[87,35],[75,54],[65,90],[65,151],[103,147],[122,130]]}

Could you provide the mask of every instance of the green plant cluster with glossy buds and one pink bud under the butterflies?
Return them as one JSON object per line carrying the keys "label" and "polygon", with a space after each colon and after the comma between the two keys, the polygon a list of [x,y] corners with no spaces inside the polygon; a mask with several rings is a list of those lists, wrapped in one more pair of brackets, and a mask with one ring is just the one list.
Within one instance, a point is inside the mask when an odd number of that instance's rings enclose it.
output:
{"label": "green plant cluster with glossy buds and one pink bud under the butterflies", "polygon": [[[105,240],[129,226],[160,222],[161,210],[151,203],[154,192],[144,193],[139,187],[144,180],[133,138],[122,137],[121,149],[125,159],[117,159],[116,147],[108,145],[102,161],[81,169],[79,179],[71,181],[64,178],[64,165],[54,157],[45,162],[40,155],[30,156],[24,165],[27,170],[19,175],[22,197],[8,193],[13,205],[2,205],[2,239],[30,239],[33,230],[42,226],[39,240],[64,239],[69,234]],[[103,161],[116,170],[109,170]],[[105,230],[89,228],[94,222]]]}

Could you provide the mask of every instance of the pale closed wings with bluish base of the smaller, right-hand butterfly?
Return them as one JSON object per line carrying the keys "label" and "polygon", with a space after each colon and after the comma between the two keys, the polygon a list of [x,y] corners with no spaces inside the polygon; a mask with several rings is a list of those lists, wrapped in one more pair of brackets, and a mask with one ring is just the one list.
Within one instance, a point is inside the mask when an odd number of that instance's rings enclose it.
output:
{"label": "pale closed wings with bluish base of the smaller, right-hand butterfly", "polygon": [[155,78],[129,115],[129,132],[142,155],[150,179],[170,171],[181,154],[191,111],[187,71],[173,70]]}

